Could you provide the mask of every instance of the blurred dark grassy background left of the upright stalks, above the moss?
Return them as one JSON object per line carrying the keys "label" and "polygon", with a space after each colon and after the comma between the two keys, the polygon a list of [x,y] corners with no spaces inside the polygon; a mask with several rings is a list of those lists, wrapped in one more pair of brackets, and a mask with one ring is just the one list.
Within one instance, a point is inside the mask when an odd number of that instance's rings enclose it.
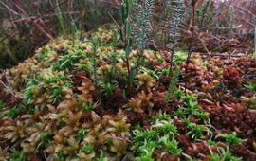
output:
{"label": "blurred dark grassy background left of the upright stalks, above the moss", "polygon": [[118,15],[114,1],[0,0],[0,67],[31,56],[57,36],[89,31]]}

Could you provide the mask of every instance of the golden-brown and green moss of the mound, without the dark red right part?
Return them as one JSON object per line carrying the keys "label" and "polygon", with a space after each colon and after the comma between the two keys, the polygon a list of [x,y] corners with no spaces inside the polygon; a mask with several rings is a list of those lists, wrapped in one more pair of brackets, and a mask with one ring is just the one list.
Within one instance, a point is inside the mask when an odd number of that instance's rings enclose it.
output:
{"label": "golden-brown and green moss of the mound, without the dark red right part", "polygon": [[[134,90],[127,97],[125,51],[112,46],[112,33],[100,29],[93,34],[99,38],[96,54],[90,41],[73,44],[60,38],[7,71],[10,85],[21,96],[23,105],[10,109],[5,108],[6,102],[1,105],[0,143],[9,147],[0,149],[0,159],[183,159],[186,152],[192,151],[181,139],[187,137],[192,140],[189,144],[206,143],[218,150],[204,153],[206,158],[236,158],[212,142],[229,147],[243,140],[237,136],[222,137],[220,141],[213,137],[208,114],[195,97],[178,90],[170,105],[165,106],[167,111],[155,104],[159,101],[155,93],[167,91],[160,79],[171,72],[162,68],[168,66],[168,60],[160,52],[143,52],[144,63],[133,73]],[[128,59],[136,66],[138,58],[133,50]],[[93,59],[97,63],[92,63]],[[161,102],[164,104],[163,97]],[[141,127],[136,128],[137,124]]]}

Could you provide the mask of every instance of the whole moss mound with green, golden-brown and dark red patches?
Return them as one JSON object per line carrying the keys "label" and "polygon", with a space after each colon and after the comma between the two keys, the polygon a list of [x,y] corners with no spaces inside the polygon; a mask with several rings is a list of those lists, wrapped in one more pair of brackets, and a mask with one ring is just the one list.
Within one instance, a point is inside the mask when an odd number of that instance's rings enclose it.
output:
{"label": "whole moss mound with green, golden-brown and dark red patches", "polygon": [[0,160],[256,160],[255,60],[132,51],[128,93],[121,48],[100,28],[2,74]]}

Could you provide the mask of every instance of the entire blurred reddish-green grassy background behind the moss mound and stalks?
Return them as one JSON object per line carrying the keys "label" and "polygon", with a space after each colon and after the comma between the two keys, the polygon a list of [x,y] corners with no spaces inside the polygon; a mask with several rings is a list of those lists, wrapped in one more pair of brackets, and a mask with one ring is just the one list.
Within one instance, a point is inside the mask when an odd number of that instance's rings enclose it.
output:
{"label": "entire blurred reddish-green grassy background behind the moss mound and stalks", "polygon": [[[121,0],[0,0],[0,68],[8,68],[55,37],[71,37],[105,23],[119,22]],[[187,18],[180,46],[191,42],[192,6],[185,0]],[[194,50],[251,52],[256,26],[255,0],[198,0]],[[155,0],[152,40],[158,48],[168,40],[172,1]],[[231,49],[230,49],[231,48]]]}

